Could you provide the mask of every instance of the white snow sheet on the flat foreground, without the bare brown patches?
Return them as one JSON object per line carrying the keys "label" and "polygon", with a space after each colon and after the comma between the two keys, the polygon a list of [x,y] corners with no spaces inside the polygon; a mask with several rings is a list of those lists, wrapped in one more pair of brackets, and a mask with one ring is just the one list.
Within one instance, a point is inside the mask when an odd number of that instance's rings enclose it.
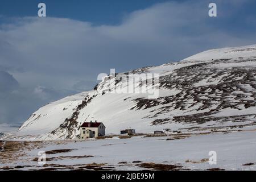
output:
{"label": "white snow sheet on the flat foreground, without the bare brown patches", "polygon": [[[139,160],[143,163],[179,163],[184,169],[209,169],[221,168],[226,170],[255,170],[256,166],[242,166],[246,163],[256,162],[256,139],[255,130],[247,130],[234,133],[214,133],[208,135],[192,135],[185,139],[166,140],[170,137],[132,137],[130,139],[104,139],[86,140],[63,144],[50,143],[46,147],[39,147],[29,151],[23,151],[26,155],[13,163],[0,164],[3,166],[32,166],[29,169],[44,168],[39,166],[32,159],[38,156],[39,151],[73,149],[71,152],[47,155],[47,158],[58,156],[84,156],[92,155],[92,158],[79,159],[58,159],[47,164],[61,164],[76,166],[79,164],[105,163],[105,166],[112,166],[117,170],[142,170],[144,168],[135,166],[132,163]],[[210,165],[207,161],[200,162],[201,159],[209,159],[209,151],[216,151],[217,164]],[[192,163],[185,162],[191,160]],[[126,164],[118,164],[127,162]],[[129,164],[129,165],[128,165]],[[34,167],[33,167],[34,166]],[[39,168],[38,168],[39,167]],[[22,170],[28,168],[21,168]]]}

